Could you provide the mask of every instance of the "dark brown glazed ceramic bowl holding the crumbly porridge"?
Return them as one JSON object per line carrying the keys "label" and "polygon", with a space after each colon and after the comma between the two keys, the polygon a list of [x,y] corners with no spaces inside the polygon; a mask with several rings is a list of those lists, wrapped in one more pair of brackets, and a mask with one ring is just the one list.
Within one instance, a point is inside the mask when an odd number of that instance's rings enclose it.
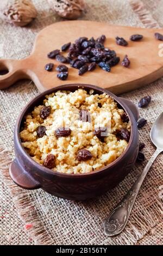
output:
{"label": "dark brown glazed ceramic bowl holding the crumbly porridge", "polygon": [[[41,166],[30,157],[22,147],[20,139],[20,128],[23,126],[24,116],[32,109],[41,104],[45,95],[57,92],[57,90],[74,91],[78,88],[86,90],[94,89],[96,93],[106,93],[117,101],[127,112],[131,123],[131,136],[127,149],[117,160],[108,166],[86,174],[65,174],[53,172]],[[136,120],[139,112],[133,103],[117,97],[108,90],[90,84],[65,84],[41,93],[30,101],[22,110],[17,119],[14,131],[15,160],[10,165],[10,175],[14,182],[28,190],[42,188],[54,196],[84,200],[99,196],[115,187],[130,172],[139,151],[139,135]]]}

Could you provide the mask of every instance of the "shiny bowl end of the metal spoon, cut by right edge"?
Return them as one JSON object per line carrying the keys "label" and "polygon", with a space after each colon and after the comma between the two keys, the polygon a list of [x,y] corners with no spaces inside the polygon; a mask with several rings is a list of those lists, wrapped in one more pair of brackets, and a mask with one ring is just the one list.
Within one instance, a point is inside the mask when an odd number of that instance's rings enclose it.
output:
{"label": "shiny bowl end of the metal spoon, cut by right edge", "polygon": [[163,112],[155,120],[150,137],[155,147],[163,150]]}

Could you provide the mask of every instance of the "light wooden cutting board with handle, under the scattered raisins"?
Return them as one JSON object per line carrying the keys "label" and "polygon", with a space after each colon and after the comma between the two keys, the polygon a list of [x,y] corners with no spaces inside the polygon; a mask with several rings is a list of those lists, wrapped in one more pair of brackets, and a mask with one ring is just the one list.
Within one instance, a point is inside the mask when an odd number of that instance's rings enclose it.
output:
{"label": "light wooden cutting board with handle, under the scattered raisins", "polygon": [[[154,33],[163,33],[163,29],[147,29],[121,27],[94,21],[61,21],[44,28],[37,36],[34,48],[29,57],[22,60],[1,59],[0,70],[9,70],[8,74],[0,76],[0,89],[7,88],[17,80],[29,78],[33,80],[40,92],[46,89],[69,83],[95,84],[108,88],[115,94],[120,94],[142,87],[155,81],[163,75],[163,57],[159,57],[161,41],[154,38]],[[125,54],[131,61],[130,68],[121,64],[113,67],[108,73],[100,68],[78,76],[78,70],[70,67],[68,79],[61,81],[55,70],[59,65],[55,59],[48,59],[47,53],[60,49],[66,42],[74,42],[79,36],[91,38],[105,34],[105,47],[117,52],[121,61]],[[130,35],[142,34],[143,40],[130,41]],[[129,42],[127,47],[118,46],[115,37],[120,36]],[[163,43],[163,42],[162,42]],[[28,42],[27,42],[28,44]],[[67,53],[66,53],[67,54]],[[64,53],[64,55],[66,55]],[[55,65],[54,71],[44,70],[47,63]]]}

